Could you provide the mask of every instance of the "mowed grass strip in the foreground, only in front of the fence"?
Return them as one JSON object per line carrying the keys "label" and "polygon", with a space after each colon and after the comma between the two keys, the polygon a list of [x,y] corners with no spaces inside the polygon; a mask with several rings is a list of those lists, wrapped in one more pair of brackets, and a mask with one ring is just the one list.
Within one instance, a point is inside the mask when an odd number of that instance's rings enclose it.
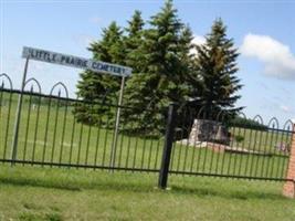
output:
{"label": "mowed grass strip in the foreground, only in front of the fence", "polygon": [[294,221],[282,182],[0,166],[0,220]]}

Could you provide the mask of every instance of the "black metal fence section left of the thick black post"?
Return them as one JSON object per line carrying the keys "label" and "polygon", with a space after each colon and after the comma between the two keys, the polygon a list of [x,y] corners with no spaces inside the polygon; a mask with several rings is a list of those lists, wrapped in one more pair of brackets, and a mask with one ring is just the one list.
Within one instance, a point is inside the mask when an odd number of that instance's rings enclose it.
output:
{"label": "black metal fence section left of the thick black post", "polygon": [[[115,113],[119,107],[124,115],[124,112],[129,113],[129,107],[69,98],[67,90],[61,83],[45,95],[35,80],[29,80],[27,85],[30,83],[29,90],[23,93],[14,158],[13,124],[20,91],[12,90],[12,85],[6,87],[4,82],[0,85],[0,161],[150,172],[159,170],[161,136],[146,136],[144,131],[131,135],[129,130],[135,131],[136,125],[122,118],[114,147]],[[97,115],[95,124],[77,122],[74,112],[82,104],[89,109],[104,110]],[[136,122],[140,115],[131,117]]]}

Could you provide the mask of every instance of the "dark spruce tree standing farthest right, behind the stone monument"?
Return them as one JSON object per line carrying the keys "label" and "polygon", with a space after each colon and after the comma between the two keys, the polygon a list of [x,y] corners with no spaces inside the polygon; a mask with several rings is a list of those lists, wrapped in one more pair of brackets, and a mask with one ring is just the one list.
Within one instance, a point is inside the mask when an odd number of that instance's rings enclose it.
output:
{"label": "dark spruce tree standing farthest right, behind the stone monument", "polygon": [[236,92],[242,87],[235,76],[238,72],[238,49],[232,39],[226,38],[226,27],[221,19],[214,21],[206,43],[197,46],[197,65],[202,85],[201,99],[209,116],[224,110],[234,114],[241,97]]}

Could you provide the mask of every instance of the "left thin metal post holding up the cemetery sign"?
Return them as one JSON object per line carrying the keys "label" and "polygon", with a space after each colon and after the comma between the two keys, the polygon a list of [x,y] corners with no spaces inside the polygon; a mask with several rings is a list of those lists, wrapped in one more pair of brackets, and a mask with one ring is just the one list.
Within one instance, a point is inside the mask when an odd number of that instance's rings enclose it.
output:
{"label": "left thin metal post holding up the cemetery sign", "polygon": [[21,120],[21,106],[22,106],[22,99],[23,99],[23,91],[25,86],[25,80],[27,80],[27,73],[28,73],[28,67],[29,67],[29,60],[30,56],[27,57],[25,64],[24,64],[24,71],[23,71],[23,76],[22,76],[22,83],[21,83],[21,92],[19,95],[18,99],[18,106],[17,106],[17,114],[15,114],[15,123],[13,127],[13,138],[12,138],[12,154],[11,154],[11,160],[12,164],[14,164],[17,159],[17,154],[18,154],[18,139],[19,139],[19,129],[20,129],[20,120]]}

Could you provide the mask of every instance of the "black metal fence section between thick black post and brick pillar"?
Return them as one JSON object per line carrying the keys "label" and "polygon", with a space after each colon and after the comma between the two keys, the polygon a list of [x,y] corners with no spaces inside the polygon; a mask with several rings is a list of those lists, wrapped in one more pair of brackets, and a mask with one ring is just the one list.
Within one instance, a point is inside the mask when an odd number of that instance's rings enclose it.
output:
{"label": "black metal fence section between thick black post and brick pillar", "polygon": [[[178,109],[179,110],[179,109]],[[187,107],[173,118],[170,173],[286,180],[294,125]],[[182,124],[181,124],[182,123]]]}

